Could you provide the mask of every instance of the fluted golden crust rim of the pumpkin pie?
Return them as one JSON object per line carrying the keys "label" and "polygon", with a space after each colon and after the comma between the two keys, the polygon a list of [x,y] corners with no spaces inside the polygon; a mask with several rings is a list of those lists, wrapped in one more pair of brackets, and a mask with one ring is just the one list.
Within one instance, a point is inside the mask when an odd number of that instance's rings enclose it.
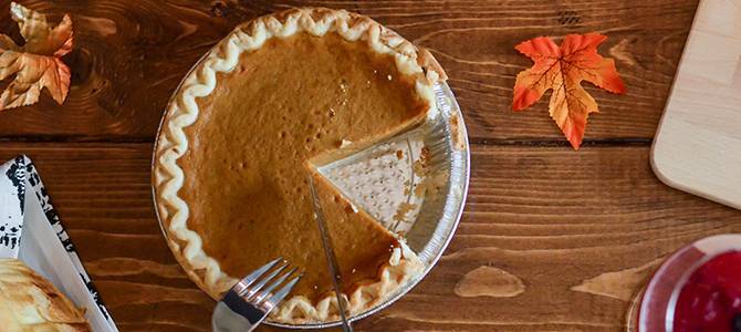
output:
{"label": "fluted golden crust rim of the pumpkin pie", "polygon": [[[415,46],[367,17],[344,10],[300,8],[260,17],[237,27],[205,55],[170,100],[160,124],[153,172],[155,204],[167,243],[190,279],[215,299],[219,299],[238,280],[221,270],[219,262],[203,251],[200,235],[188,228],[188,204],[178,196],[185,174],[177,160],[188,151],[188,137],[184,128],[198,118],[196,98],[211,94],[217,84],[217,73],[231,72],[241,53],[261,48],[267,40],[286,38],[298,32],[315,37],[335,32],[346,41],[366,43],[373,52],[392,54],[398,72],[415,80],[417,95],[429,104],[428,116],[437,112],[432,85],[447,76],[435,58],[429,51]],[[424,263],[416,253],[403,239],[398,242],[388,262],[378,269],[376,280],[353,284],[352,293],[343,294],[348,299],[351,314],[375,307],[422,272]],[[286,299],[270,319],[296,324],[337,318],[336,297],[328,293],[315,304],[302,295]]]}

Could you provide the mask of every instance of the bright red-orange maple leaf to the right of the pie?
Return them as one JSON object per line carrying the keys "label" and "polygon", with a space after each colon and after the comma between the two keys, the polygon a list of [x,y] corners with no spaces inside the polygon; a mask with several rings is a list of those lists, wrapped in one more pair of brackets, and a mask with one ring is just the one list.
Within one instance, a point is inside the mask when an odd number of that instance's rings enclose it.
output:
{"label": "bright red-orange maple leaf to the right of the pie", "polygon": [[605,39],[607,37],[599,33],[568,34],[559,48],[550,38],[539,37],[516,45],[514,49],[535,64],[518,74],[512,108],[524,110],[538,102],[545,91],[553,90],[549,103],[551,117],[574,149],[578,149],[588,114],[598,112],[597,103],[581,82],[592,82],[612,93],[625,92],[615,61],[597,53],[597,45]]}

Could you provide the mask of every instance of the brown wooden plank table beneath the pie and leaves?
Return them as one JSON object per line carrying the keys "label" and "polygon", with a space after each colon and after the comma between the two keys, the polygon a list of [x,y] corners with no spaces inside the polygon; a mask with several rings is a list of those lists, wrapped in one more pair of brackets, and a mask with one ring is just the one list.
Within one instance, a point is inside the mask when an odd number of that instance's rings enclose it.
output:
{"label": "brown wooden plank table beneath the pie and leaves", "polygon": [[[206,331],[213,302],[160,235],[149,187],[155,131],[182,75],[237,23],[290,6],[345,8],[429,48],[450,75],[471,141],[466,214],[431,273],[358,330],[619,331],[669,253],[741,231],[741,211],[657,180],[648,155],[696,0],[21,1],[71,12],[64,105],[0,113],[0,159],[28,154],[122,331]],[[239,3],[237,3],[239,2]],[[18,37],[0,4],[0,31]],[[602,113],[571,149],[541,102],[510,110],[513,46],[598,31],[628,92],[587,84]]]}

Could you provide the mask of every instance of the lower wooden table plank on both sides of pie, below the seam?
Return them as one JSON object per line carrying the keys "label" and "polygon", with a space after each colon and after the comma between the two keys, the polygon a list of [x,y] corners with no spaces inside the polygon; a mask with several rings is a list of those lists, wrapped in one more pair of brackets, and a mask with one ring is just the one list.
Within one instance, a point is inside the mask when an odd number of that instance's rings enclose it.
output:
{"label": "lower wooden table plank on both sides of pie, below the seam", "polygon": [[[208,331],[213,302],[154,217],[150,148],[6,143],[0,160],[35,162],[122,330]],[[467,210],[439,264],[358,330],[618,331],[662,258],[741,231],[741,211],[660,184],[647,146],[474,145],[471,164]]]}

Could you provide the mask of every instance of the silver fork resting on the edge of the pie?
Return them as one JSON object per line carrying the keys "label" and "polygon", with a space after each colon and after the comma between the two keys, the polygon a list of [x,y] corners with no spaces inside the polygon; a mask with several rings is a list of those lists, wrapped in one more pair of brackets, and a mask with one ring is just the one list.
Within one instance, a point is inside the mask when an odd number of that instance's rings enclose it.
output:
{"label": "silver fork resting on the edge of the pie", "polygon": [[289,266],[288,260],[276,258],[237,282],[216,305],[211,317],[213,331],[242,332],[257,328],[303,276],[295,267],[281,273]]}

